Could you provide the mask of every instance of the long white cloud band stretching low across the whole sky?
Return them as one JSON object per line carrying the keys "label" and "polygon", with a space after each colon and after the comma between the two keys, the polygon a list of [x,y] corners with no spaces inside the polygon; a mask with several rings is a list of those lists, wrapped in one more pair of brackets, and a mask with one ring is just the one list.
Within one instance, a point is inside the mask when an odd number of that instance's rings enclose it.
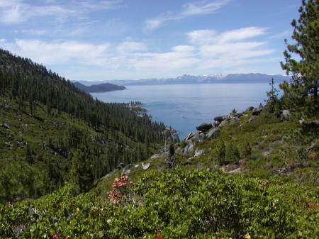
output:
{"label": "long white cloud band stretching low across the whole sky", "polygon": [[[196,30],[187,33],[189,45],[175,45],[170,50],[153,52],[147,42],[126,38],[122,43],[83,43],[79,41],[45,41],[16,39],[1,45],[36,62],[50,66],[79,69],[82,76],[87,65],[94,66],[94,74],[103,72],[112,78],[150,77],[159,74],[177,75],[230,69],[250,69],[256,62],[274,60],[264,28],[240,28],[218,33],[216,30]],[[1,42],[1,41],[0,41]],[[86,67],[89,68],[89,67]],[[62,72],[63,74],[63,72]],[[97,73],[96,73],[97,74]],[[67,76],[68,77],[68,76]]]}

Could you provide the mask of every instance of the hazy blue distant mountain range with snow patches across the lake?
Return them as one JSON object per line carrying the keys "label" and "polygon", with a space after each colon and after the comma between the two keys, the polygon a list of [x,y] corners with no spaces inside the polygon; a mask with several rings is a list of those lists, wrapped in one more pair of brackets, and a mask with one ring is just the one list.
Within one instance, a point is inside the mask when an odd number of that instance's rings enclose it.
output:
{"label": "hazy blue distant mountain range with snow patches across the lake", "polygon": [[91,86],[92,84],[101,83],[111,83],[111,84],[121,84],[124,86],[132,85],[161,85],[161,84],[216,84],[216,83],[268,83],[274,78],[276,83],[281,83],[284,81],[289,81],[290,77],[283,76],[281,74],[270,75],[270,74],[260,74],[260,73],[250,73],[250,74],[207,74],[193,76],[189,74],[184,74],[176,78],[151,78],[151,79],[117,79],[108,80],[101,82],[86,82],[80,81],[85,86]]}

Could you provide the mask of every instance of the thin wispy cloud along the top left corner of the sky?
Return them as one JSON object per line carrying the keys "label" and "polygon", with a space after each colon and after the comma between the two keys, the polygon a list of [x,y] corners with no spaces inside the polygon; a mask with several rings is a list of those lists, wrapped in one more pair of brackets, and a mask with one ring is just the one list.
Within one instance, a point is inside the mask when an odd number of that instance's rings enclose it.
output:
{"label": "thin wispy cloud along the top left corner of the sky", "polygon": [[112,10],[123,7],[123,0],[111,1],[45,1],[41,6],[25,0],[0,0],[0,23],[15,24],[30,18],[55,16],[59,19],[81,16],[90,11]]}

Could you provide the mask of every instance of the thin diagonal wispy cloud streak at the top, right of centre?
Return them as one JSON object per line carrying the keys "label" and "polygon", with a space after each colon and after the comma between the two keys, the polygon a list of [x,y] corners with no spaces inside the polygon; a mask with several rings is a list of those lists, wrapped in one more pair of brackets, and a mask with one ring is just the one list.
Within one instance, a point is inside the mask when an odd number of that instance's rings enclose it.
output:
{"label": "thin diagonal wispy cloud streak at the top, right of centre", "polygon": [[215,13],[222,6],[228,4],[230,0],[196,1],[182,6],[179,12],[166,12],[145,21],[145,30],[155,30],[162,26],[166,21],[176,21],[182,18],[196,15]]}

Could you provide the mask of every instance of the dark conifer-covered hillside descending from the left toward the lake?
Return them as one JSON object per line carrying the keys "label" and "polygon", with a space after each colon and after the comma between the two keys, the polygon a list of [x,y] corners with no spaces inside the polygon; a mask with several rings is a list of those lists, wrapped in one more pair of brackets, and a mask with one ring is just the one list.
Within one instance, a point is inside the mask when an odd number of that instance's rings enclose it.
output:
{"label": "dark conifer-covered hillside descending from the left toward the lake", "polygon": [[105,104],[31,60],[0,50],[0,201],[72,181],[86,191],[119,162],[144,160],[164,125]]}

